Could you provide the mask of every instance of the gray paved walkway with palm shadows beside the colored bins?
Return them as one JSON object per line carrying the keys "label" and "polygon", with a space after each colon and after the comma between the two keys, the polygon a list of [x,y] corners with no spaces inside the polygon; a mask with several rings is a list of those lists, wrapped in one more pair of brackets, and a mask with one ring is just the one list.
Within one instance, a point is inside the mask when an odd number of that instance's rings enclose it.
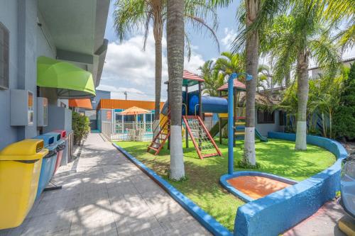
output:
{"label": "gray paved walkway with palm shadows beside the colored bins", "polygon": [[20,227],[0,235],[209,235],[154,181],[99,134],[84,143],[77,172],[53,180]]}

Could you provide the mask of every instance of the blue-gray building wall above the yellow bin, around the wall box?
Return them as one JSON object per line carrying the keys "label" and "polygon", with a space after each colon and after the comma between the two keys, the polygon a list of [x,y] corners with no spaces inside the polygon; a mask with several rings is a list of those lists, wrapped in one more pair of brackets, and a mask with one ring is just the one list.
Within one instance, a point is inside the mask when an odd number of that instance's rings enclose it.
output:
{"label": "blue-gray building wall above the yellow bin, around the wall box", "polygon": [[[0,89],[0,149],[11,142],[37,135],[37,111],[34,125],[10,126],[10,89],[28,89],[36,95],[37,57],[55,57],[51,37],[37,25],[37,0],[0,0],[0,22],[9,30],[9,89]],[[46,36],[45,36],[46,35]],[[34,108],[37,107],[36,96]],[[15,104],[16,106],[16,104]]]}

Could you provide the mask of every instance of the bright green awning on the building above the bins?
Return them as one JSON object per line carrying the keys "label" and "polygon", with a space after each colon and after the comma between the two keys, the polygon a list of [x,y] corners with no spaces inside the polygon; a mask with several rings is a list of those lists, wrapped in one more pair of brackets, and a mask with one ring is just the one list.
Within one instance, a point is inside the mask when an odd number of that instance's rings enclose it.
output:
{"label": "bright green awning on the building above the bins", "polygon": [[37,59],[37,85],[56,88],[60,99],[84,99],[96,95],[90,72],[49,57]]}

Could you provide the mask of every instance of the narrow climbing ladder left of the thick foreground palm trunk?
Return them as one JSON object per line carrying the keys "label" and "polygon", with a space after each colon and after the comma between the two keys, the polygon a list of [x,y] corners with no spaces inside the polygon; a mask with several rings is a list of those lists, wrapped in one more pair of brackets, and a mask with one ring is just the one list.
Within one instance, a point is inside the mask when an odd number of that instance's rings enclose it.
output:
{"label": "narrow climbing ladder left of the thick foreground palm trunk", "polygon": [[168,140],[168,137],[170,136],[170,109],[168,110],[167,118],[160,120],[157,128],[160,128],[159,133],[155,135],[153,141],[151,142],[151,145],[149,145],[147,149],[147,152],[153,150],[155,156],[160,152],[166,140]]}

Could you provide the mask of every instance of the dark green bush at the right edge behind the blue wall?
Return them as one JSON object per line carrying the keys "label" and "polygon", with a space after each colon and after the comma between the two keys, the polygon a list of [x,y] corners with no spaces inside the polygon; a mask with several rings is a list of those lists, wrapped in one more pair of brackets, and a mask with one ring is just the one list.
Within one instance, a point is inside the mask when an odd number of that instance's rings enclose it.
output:
{"label": "dark green bush at the right edge behind the blue wall", "polygon": [[355,139],[355,63],[351,64],[349,77],[344,81],[339,107],[334,114],[334,131],[338,137]]}

